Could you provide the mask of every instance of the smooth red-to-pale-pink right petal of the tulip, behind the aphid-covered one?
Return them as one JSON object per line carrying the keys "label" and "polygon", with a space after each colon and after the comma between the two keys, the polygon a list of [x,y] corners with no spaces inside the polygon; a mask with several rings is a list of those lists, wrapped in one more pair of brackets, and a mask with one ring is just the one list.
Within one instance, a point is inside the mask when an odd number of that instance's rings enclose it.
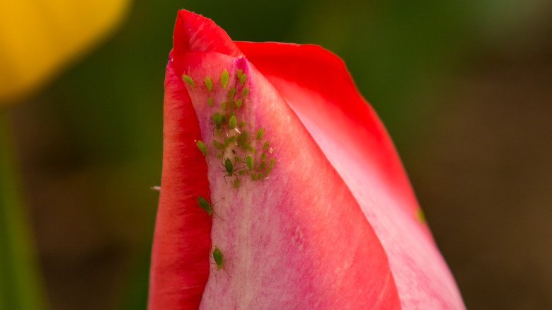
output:
{"label": "smooth red-to-pale-pink right petal of the tulip, behind the aphid-covered one", "polygon": [[389,256],[403,309],[464,309],[391,139],[343,61],[315,45],[236,43],[355,195]]}

